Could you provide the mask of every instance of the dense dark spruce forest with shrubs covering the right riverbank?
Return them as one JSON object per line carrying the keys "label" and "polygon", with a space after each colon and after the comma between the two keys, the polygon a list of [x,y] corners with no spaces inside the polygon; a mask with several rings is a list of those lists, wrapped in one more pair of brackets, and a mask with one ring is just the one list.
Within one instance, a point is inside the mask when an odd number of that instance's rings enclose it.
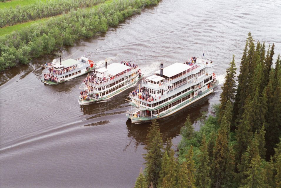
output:
{"label": "dense dark spruce forest with shrubs covering the right riverbank", "polygon": [[280,55],[274,66],[274,44],[265,48],[248,34],[240,74],[233,56],[215,115],[203,115],[197,132],[187,117],[177,157],[152,122],[135,188],[281,187]]}

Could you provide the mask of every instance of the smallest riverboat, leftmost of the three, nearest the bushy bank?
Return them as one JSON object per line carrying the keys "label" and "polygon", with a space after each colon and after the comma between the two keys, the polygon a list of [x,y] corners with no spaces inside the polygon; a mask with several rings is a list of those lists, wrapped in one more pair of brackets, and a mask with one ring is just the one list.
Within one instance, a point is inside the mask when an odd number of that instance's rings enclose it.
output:
{"label": "smallest riverboat, leftmost of the three, nearest the bushy bank", "polygon": [[93,61],[83,56],[76,60],[61,61],[60,58],[60,63],[52,65],[48,68],[47,73],[43,73],[41,81],[49,85],[56,85],[86,74],[94,70],[96,66]]}

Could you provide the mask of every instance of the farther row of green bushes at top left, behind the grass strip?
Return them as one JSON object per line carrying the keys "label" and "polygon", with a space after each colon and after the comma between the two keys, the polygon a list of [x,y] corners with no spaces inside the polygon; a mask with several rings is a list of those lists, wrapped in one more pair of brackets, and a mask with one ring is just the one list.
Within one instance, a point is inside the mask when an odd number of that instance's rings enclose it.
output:
{"label": "farther row of green bushes at top left, behind the grass strip", "polygon": [[31,5],[0,9],[0,27],[56,16],[78,8],[90,7],[106,0],[51,0],[46,3],[38,1]]}

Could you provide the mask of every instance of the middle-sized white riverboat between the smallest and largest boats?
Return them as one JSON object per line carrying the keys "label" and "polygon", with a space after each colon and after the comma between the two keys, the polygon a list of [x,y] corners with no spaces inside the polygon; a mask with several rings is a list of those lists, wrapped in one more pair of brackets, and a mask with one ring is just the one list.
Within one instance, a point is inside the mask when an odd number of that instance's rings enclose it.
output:
{"label": "middle-sized white riverboat between the smallest and largest boats", "polygon": [[94,71],[79,87],[80,105],[110,99],[135,85],[142,77],[141,69],[131,62],[112,63]]}

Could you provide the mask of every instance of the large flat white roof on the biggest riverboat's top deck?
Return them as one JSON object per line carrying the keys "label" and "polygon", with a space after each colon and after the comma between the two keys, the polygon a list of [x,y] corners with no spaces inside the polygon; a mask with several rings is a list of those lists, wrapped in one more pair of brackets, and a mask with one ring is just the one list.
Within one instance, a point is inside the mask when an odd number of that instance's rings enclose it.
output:
{"label": "large flat white roof on the biggest riverboat's top deck", "polygon": [[[167,77],[172,77],[178,73],[181,73],[185,70],[190,69],[191,66],[184,64],[184,63],[174,63],[168,67],[163,68],[163,75],[167,76]],[[157,74],[160,74],[160,70],[157,70],[156,72]]]}

